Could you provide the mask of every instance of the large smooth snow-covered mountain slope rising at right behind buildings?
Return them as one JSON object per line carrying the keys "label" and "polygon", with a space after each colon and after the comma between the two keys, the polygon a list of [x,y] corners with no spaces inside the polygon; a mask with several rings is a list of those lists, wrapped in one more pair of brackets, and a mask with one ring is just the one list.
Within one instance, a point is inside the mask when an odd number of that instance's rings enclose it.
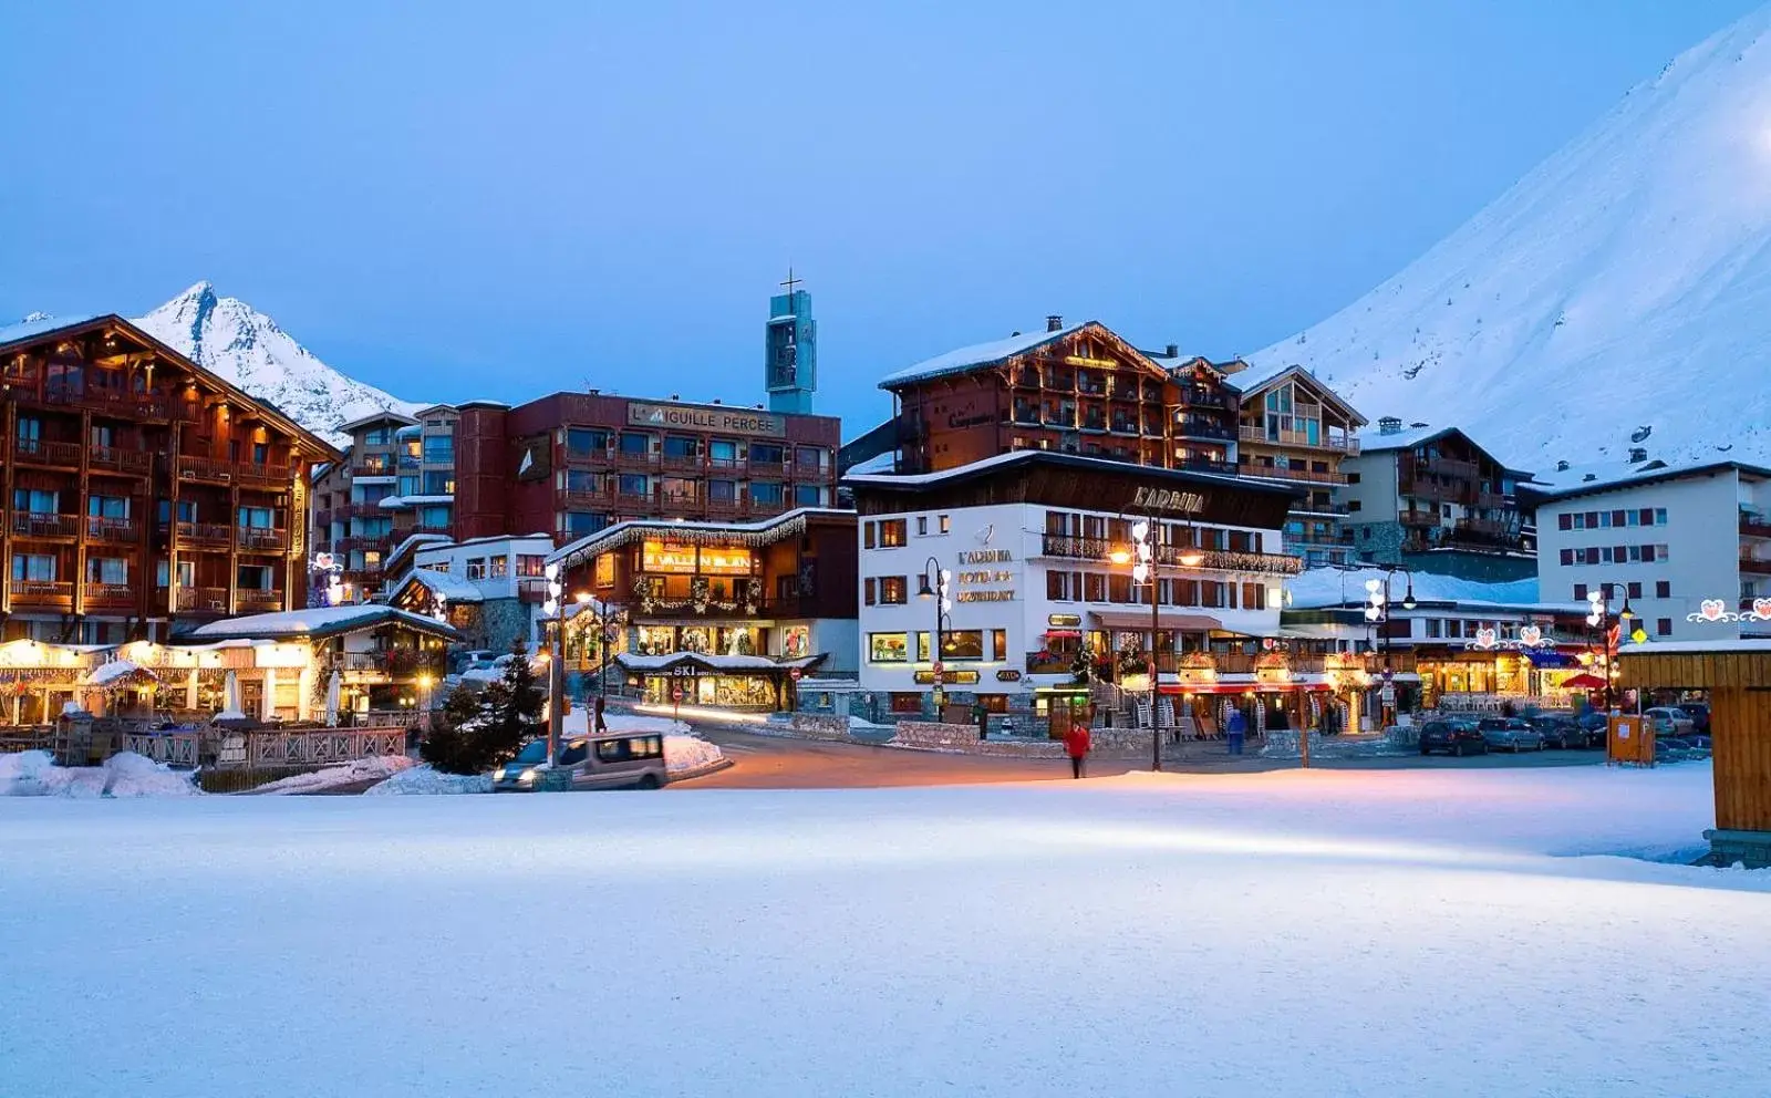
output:
{"label": "large smooth snow-covered mountain slope rising at right behind buildings", "polygon": [[1679,55],[1401,274],[1254,356],[1523,468],[1771,460],[1771,7]]}

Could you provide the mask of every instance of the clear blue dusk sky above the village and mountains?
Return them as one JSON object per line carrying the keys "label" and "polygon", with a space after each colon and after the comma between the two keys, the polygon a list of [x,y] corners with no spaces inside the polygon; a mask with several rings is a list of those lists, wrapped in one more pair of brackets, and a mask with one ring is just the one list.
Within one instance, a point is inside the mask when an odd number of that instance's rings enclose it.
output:
{"label": "clear blue dusk sky above the village and mountains", "polygon": [[1098,319],[1247,354],[1351,303],[1746,0],[0,2],[0,322],[213,280],[411,400],[818,411]]}

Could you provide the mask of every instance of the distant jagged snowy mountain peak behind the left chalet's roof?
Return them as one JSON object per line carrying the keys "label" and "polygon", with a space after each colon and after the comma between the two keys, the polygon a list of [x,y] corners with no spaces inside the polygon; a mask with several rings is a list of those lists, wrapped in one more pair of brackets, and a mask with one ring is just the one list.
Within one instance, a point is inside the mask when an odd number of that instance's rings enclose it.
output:
{"label": "distant jagged snowy mountain peak behind the left chalet's roof", "polygon": [[335,443],[347,441],[338,430],[342,423],[379,409],[409,414],[420,407],[333,370],[276,321],[237,298],[218,298],[207,282],[198,282],[136,324]]}

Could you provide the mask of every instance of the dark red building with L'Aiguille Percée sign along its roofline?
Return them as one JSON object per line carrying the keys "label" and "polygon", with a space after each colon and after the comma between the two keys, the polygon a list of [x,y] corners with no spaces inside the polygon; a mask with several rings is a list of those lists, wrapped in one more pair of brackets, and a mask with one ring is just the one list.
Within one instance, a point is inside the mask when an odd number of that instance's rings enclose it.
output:
{"label": "dark red building with L'Aiguille Perc\u00e9e sign along its roofline", "polygon": [[599,391],[459,413],[457,538],[565,544],[625,519],[767,519],[836,501],[834,416]]}

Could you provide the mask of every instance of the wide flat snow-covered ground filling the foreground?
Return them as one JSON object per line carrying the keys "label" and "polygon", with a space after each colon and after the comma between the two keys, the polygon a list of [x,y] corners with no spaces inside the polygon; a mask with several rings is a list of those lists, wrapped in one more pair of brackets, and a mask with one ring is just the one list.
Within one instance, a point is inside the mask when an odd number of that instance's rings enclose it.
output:
{"label": "wide flat snow-covered ground filling the foreground", "polygon": [[[1707,765],[0,800],[18,1094],[1771,1093]],[[1578,855],[1578,857],[1576,857]]]}

